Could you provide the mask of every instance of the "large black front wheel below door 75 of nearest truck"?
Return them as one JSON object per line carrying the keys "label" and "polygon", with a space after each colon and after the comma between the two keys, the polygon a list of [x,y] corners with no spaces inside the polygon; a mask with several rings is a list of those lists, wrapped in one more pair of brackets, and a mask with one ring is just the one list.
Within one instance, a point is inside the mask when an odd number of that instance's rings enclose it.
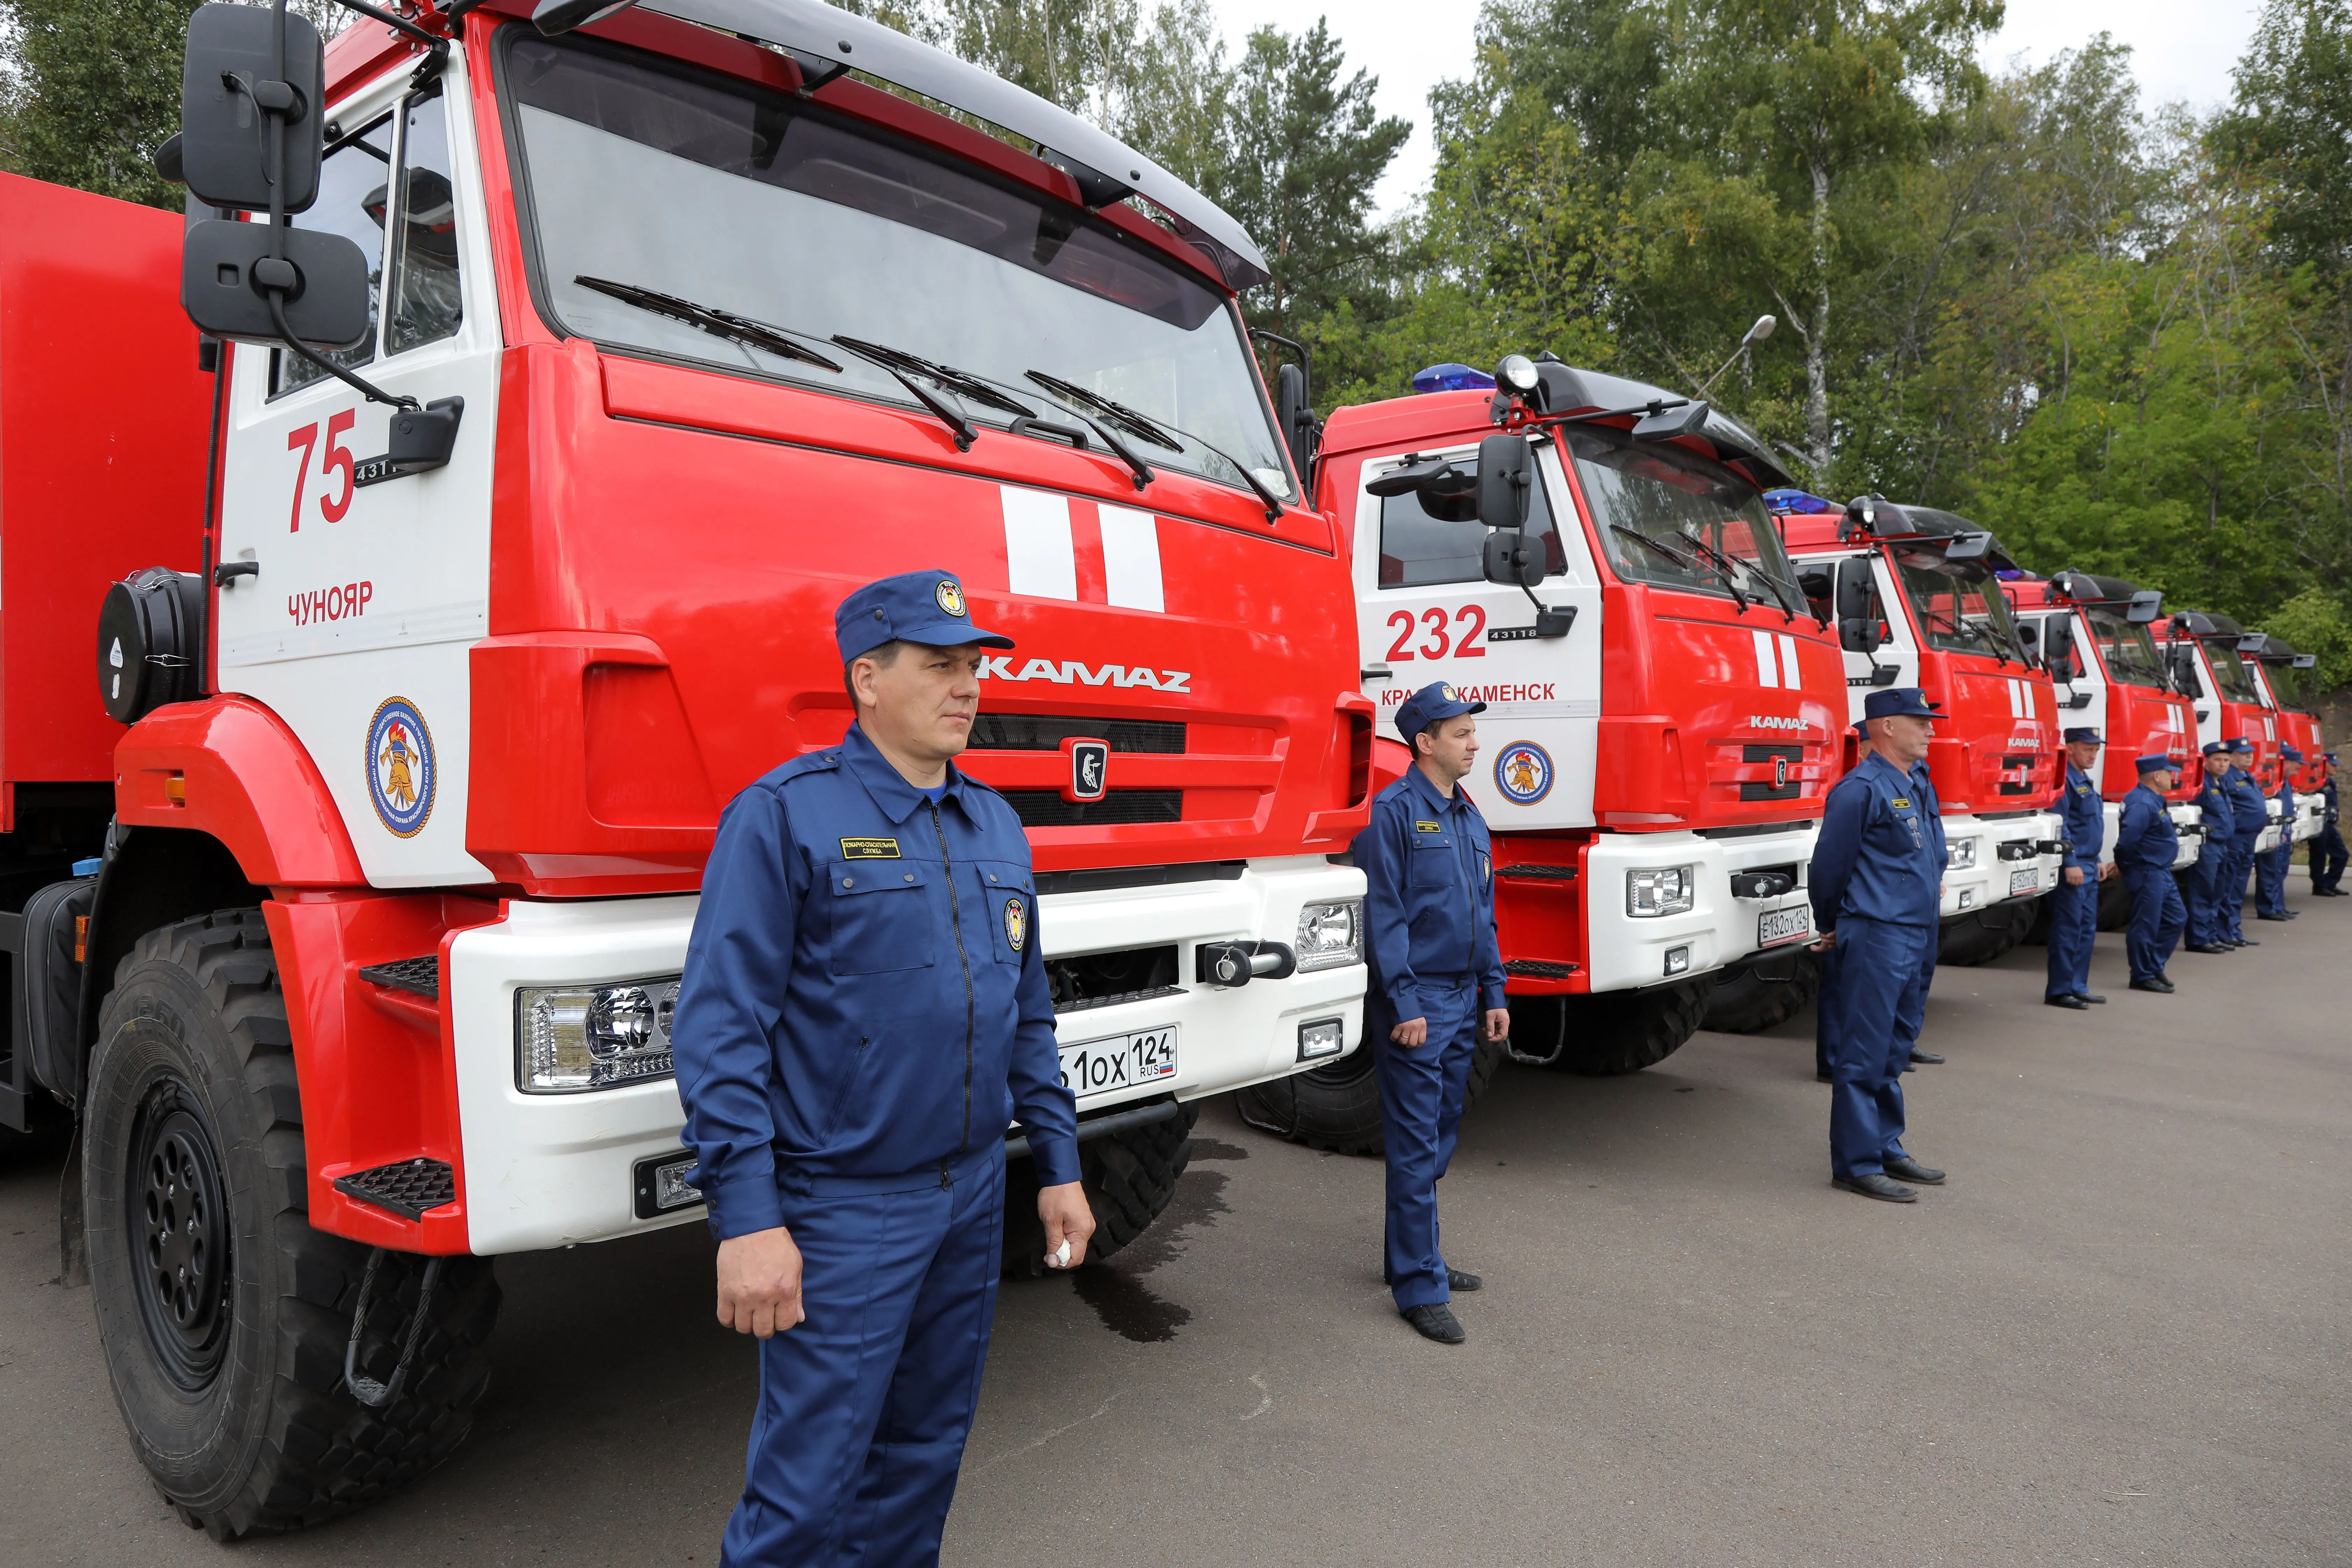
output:
{"label": "large black front wheel below door 75 of nearest truck", "polygon": [[[447,1258],[400,1399],[343,1385],[369,1248],[310,1229],[285,994],[259,910],[148,931],[115,969],[85,1112],[99,1342],[132,1448],[214,1540],[343,1514],[437,1465],[489,1380],[499,1284]],[[390,1382],[423,1258],[386,1253],[362,1368]]]}

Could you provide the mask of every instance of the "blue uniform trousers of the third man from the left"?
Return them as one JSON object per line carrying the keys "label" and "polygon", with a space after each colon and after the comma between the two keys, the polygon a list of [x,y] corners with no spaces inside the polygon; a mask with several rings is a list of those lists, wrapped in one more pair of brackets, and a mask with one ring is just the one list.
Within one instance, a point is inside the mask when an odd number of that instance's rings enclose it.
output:
{"label": "blue uniform trousers of the third man from the left", "polygon": [[1875,1175],[1889,1159],[1903,1159],[1903,1067],[1936,978],[1936,926],[1839,914],[1835,959],[1820,987],[1823,1011],[1837,1013],[1830,1171]]}

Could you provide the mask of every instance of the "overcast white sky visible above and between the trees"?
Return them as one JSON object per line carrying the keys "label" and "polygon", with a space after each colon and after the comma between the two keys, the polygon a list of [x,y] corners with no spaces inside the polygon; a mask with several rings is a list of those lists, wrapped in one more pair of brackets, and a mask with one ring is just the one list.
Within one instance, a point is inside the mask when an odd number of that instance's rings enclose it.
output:
{"label": "overcast white sky visible above and between the trees", "polygon": [[[1381,78],[1381,110],[1414,122],[1378,205],[1395,212],[1430,176],[1428,92],[1470,73],[1477,0],[1211,0],[1228,45],[1261,24],[1305,31],[1329,16],[1348,63]],[[2131,45],[2143,106],[2187,101],[2213,108],[2230,96],[2230,66],[2253,33],[2256,0],[2009,0],[2009,26],[1983,49],[1985,66],[2013,56],[2034,63],[2093,33]],[[1230,59],[1230,54],[1228,54]]]}

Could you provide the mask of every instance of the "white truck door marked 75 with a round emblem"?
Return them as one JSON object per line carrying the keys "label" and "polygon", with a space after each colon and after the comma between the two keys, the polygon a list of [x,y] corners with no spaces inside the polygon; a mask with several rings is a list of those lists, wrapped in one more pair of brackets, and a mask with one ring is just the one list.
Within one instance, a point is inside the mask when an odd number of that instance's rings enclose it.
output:
{"label": "white truck door marked 75 with a round emblem", "polygon": [[388,477],[393,409],[240,346],[221,508],[219,689],[268,705],[327,778],[376,886],[489,882],[466,853],[468,646],[489,630],[499,331],[461,56],[346,99],[296,223],[360,242],[374,336],[329,355],[386,393],[463,397],[447,468]]}

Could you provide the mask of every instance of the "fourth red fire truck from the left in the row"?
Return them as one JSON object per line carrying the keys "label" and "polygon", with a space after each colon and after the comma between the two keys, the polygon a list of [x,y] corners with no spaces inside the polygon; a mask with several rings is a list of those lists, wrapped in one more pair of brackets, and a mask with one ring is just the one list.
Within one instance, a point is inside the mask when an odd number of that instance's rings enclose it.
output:
{"label": "fourth red fire truck from the left in the row", "polygon": [[[2197,860],[2204,811],[2197,806],[2197,715],[2173,691],[2150,625],[2164,595],[2122,578],[2060,571],[2053,578],[2009,583],[2018,639],[2049,670],[2060,729],[2096,729],[2107,743],[2100,755],[2098,792],[2107,818],[2100,860],[2114,860],[2114,830],[2124,795],[2138,783],[2136,757],[2164,752],[2178,769],[2164,797],[2180,853],[2173,870]],[[2131,896],[2122,877],[2100,884],[2100,924],[2119,929],[2131,919]]]}

